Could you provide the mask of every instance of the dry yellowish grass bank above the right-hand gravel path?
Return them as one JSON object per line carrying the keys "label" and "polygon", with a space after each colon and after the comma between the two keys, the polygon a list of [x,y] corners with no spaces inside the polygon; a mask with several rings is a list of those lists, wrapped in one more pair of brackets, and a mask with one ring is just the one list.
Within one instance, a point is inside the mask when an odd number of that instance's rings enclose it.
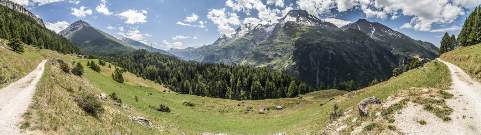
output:
{"label": "dry yellowish grass bank above the right-hand gravel path", "polygon": [[481,79],[481,44],[459,46],[455,50],[443,53],[441,59],[463,69],[472,78]]}

